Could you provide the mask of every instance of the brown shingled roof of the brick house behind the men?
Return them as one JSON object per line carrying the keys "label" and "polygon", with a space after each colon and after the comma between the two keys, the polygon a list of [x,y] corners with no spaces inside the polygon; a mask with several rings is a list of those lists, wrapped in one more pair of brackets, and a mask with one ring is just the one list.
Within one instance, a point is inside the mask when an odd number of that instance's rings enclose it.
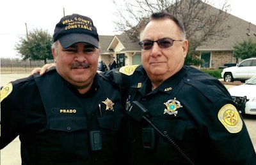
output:
{"label": "brown shingled roof of the brick house behind the men", "polygon": [[[209,5],[209,12],[218,12],[219,9]],[[234,45],[237,42],[241,42],[247,39],[256,41],[256,25],[246,22],[245,20],[238,18],[234,15],[227,13],[229,16],[223,26],[229,27],[227,33],[230,34],[227,38],[221,40],[209,40],[202,43],[201,46],[197,47],[199,51],[227,51],[234,50]],[[249,33],[250,36],[246,33]],[[102,54],[113,53],[117,45],[122,45],[118,48],[118,51],[141,51],[139,39],[136,41],[130,39],[126,34],[115,35],[115,36],[99,36],[100,45],[102,48]]]}

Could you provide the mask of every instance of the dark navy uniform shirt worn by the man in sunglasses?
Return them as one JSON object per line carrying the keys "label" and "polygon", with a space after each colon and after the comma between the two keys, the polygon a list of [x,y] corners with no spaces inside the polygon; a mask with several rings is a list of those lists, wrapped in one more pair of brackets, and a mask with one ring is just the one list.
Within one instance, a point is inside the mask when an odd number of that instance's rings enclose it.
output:
{"label": "dark navy uniform shirt worn by the man in sunglasses", "polygon": [[114,76],[108,73],[106,77],[122,84],[127,112],[132,110],[132,101],[138,101],[147,108],[148,120],[168,135],[164,138],[143,118],[129,117],[131,164],[191,163],[185,157],[194,164],[256,164],[244,121],[219,80],[184,66],[151,90],[142,66],[119,71],[121,76],[114,71]]}

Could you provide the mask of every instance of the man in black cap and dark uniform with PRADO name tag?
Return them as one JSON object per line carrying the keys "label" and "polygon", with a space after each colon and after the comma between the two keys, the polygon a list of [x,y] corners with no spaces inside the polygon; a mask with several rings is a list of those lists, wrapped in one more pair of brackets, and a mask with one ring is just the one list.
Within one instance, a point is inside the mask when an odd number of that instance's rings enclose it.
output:
{"label": "man in black cap and dark uniform with PRADO name tag", "polygon": [[121,95],[97,73],[92,19],[61,18],[53,39],[56,69],[1,90],[1,149],[19,136],[22,164],[125,164]]}

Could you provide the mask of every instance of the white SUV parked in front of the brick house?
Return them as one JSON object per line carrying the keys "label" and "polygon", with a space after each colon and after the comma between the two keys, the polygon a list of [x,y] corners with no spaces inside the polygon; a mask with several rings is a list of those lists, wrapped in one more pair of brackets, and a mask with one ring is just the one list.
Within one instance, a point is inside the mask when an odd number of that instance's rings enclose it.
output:
{"label": "white SUV parked in front of the brick house", "polygon": [[255,74],[256,57],[252,57],[241,61],[236,66],[223,69],[221,78],[223,78],[225,82],[234,82],[235,80],[245,82],[245,80],[248,80]]}

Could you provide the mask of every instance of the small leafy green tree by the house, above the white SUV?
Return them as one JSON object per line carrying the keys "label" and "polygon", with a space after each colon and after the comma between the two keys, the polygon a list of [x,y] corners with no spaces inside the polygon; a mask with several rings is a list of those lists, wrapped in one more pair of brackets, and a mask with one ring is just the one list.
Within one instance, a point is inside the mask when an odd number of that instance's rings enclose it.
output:
{"label": "small leafy green tree by the house, above the white SUV", "polygon": [[240,43],[236,43],[234,48],[234,57],[241,59],[248,59],[250,57],[256,57],[256,41],[252,39],[244,40]]}

